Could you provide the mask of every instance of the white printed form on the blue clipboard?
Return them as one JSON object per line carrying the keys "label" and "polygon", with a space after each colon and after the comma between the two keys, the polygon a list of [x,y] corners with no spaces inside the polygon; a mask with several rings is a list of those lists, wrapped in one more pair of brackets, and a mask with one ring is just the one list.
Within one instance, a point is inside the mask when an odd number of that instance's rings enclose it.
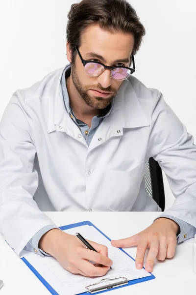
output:
{"label": "white printed form on the blue clipboard", "polygon": [[135,261],[120,249],[111,246],[110,241],[98,232],[93,226],[85,225],[65,230],[66,233],[75,235],[80,233],[84,238],[93,240],[108,247],[108,257],[113,261],[112,269],[101,277],[89,278],[80,274],[73,274],[65,270],[53,257],[41,257],[37,254],[26,256],[25,259],[40,273],[49,285],[59,295],[75,295],[86,292],[85,288],[104,278],[126,277],[133,280],[150,276],[144,268],[136,269]]}

